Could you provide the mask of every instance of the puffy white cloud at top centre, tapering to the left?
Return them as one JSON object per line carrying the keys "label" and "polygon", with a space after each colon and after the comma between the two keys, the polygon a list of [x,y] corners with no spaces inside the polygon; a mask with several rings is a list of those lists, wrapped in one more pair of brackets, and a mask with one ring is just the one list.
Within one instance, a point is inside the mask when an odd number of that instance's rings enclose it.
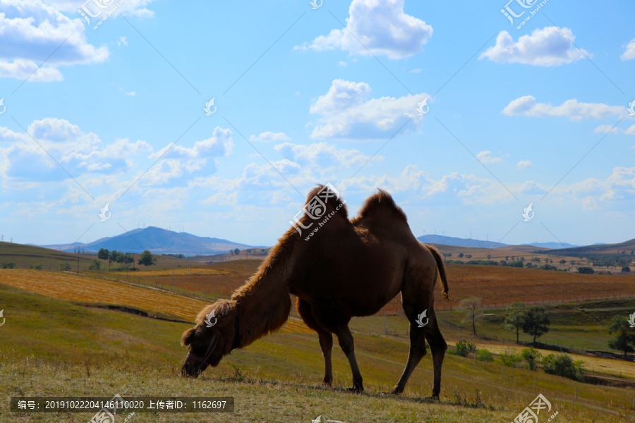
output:
{"label": "puffy white cloud at top centre, tapering to the left", "polygon": [[311,44],[295,48],[340,49],[362,56],[368,56],[370,50],[376,56],[403,59],[423,51],[423,44],[432,34],[433,27],[404,13],[404,0],[353,0],[346,28],[331,30],[329,35],[320,35]]}

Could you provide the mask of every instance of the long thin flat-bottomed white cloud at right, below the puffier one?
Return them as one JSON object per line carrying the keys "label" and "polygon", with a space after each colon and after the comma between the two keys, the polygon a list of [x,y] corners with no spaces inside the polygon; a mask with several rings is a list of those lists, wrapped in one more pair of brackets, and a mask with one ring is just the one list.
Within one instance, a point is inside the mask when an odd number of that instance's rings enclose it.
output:
{"label": "long thin flat-bottomed white cloud at right, below the puffier one", "polygon": [[564,116],[572,121],[581,119],[603,119],[613,116],[620,116],[627,111],[624,106],[609,106],[604,103],[581,103],[576,99],[570,99],[560,104],[552,106],[548,103],[537,103],[536,98],[531,95],[519,97],[507,104],[502,111],[507,116],[534,116],[544,118],[546,116]]}

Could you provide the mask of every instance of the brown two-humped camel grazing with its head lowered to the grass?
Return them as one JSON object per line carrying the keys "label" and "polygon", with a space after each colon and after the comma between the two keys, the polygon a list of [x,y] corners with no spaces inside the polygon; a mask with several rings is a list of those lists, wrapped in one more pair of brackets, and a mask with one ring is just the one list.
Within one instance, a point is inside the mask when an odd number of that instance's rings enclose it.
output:
{"label": "brown two-humped camel grazing with its head lowered to the grass", "polygon": [[[448,290],[439,252],[414,237],[406,215],[387,192],[378,190],[369,197],[352,221],[339,195],[325,197],[325,192],[332,193],[321,185],[310,192],[298,221],[304,233],[299,227],[286,231],[231,300],[219,300],[198,314],[196,326],[181,338],[183,345],[189,345],[181,374],[198,376],[207,366],[217,366],[231,350],[280,329],[289,317],[289,294],[293,294],[302,319],[319,336],[324,383],[333,380],[334,333],[351,364],[353,390],[363,391],[349,321],[377,313],[401,292],[410,321],[410,353],[392,393],[404,391],[428,340],[434,364],[433,397],[438,398],[447,344],[433,305],[437,274],[446,299]],[[324,201],[316,207],[317,197]],[[318,215],[320,220],[314,221]]]}

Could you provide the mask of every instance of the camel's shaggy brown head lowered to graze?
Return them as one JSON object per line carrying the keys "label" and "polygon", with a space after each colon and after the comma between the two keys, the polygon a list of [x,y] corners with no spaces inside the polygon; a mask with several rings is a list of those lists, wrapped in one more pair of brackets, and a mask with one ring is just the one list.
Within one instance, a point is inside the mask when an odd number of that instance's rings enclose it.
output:
{"label": "camel's shaggy brown head lowered to graze", "polygon": [[236,302],[219,300],[205,307],[196,318],[196,326],[183,332],[181,345],[188,345],[188,356],[181,367],[182,376],[197,377],[208,366],[216,367],[238,344],[236,338]]}

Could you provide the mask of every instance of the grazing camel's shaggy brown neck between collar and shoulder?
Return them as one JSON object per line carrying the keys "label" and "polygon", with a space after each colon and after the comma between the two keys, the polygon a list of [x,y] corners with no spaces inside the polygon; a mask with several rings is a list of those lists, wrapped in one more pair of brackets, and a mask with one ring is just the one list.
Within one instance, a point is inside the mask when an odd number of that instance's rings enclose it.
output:
{"label": "grazing camel's shaggy brown neck between collar and shoulder", "polygon": [[277,331],[289,318],[289,283],[284,280],[282,266],[258,271],[231,299],[236,301],[241,347]]}

